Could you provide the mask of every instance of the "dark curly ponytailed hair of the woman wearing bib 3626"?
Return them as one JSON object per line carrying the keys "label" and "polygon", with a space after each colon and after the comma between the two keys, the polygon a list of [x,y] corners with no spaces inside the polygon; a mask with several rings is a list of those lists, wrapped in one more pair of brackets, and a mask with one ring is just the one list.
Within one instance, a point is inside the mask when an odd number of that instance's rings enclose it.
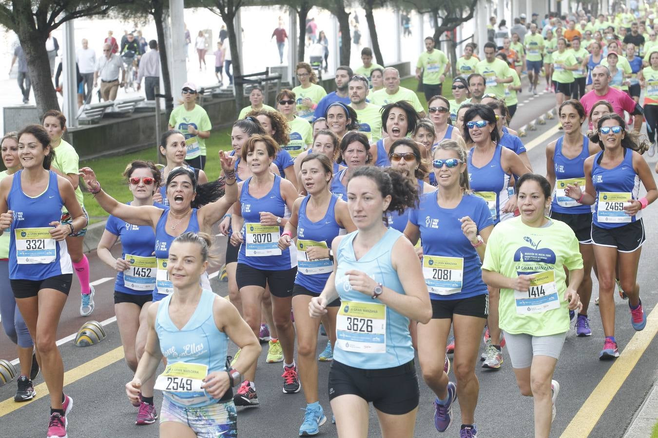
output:
{"label": "dark curly ponytailed hair of the woman wearing bib 3626", "polygon": [[347,186],[349,187],[349,183],[357,177],[372,179],[382,194],[382,198],[391,196],[391,202],[388,204],[386,211],[397,211],[402,214],[407,208],[415,208],[418,205],[418,187],[416,184],[390,167],[376,167],[373,165],[359,167],[350,175]]}

